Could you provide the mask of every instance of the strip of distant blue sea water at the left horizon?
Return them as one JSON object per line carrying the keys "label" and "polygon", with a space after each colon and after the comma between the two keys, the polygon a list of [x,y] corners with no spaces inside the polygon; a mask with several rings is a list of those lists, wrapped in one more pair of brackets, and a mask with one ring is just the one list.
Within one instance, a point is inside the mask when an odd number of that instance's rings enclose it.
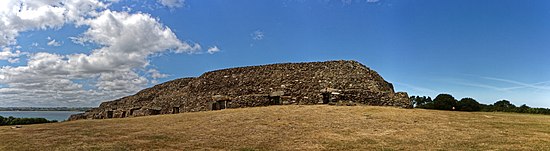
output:
{"label": "strip of distant blue sea water at the left horizon", "polygon": [[3,117],[30,117],[46,118],[48,120],[57,120],[59,122],[67,120],[73,114],[83,113],[82,111],[0,111]]}

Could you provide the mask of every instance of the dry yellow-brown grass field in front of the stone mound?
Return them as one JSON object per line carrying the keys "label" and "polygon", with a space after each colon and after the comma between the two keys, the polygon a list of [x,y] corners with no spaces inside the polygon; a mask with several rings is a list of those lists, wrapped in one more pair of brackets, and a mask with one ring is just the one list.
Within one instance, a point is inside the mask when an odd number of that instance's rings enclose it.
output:
{"label": "dry yellow-brown grass field in front of the stone mound", "polygon": [[550,150],[550,116],[270,106],[3,126],[0,150]]}

